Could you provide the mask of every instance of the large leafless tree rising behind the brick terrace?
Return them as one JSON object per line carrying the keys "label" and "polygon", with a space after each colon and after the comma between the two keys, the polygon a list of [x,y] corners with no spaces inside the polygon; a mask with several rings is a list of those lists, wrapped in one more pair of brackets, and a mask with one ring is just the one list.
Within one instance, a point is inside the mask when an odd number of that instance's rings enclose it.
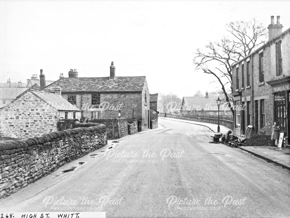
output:
{"label": "large leafless tree rising behind the brick terrace", "polygon": [[234,114],[233,100],[229,95],[232,90],[233,78],[231,65],[256,48],[265,43],[267,38],[266,28],[255,19],[250,22],[237,21],[226,25],[228,35],[220,41],[209,42],[204,49],[194,52],[193,64],[197,70],[212,74],[219,83],[224,101]]}

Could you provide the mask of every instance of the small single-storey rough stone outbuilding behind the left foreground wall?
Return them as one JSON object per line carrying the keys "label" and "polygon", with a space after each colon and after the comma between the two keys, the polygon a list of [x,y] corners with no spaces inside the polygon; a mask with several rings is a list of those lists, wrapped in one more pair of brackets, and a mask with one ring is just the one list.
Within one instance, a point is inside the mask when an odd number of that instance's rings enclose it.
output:
{"label": "small single-storey rough stone outbuilding behind the left foreground wall", "polygon": [[81,110],[60,95],[28,89],[0,109],[0,137],[35,137],[57,131],[61,118],[80,117]]}

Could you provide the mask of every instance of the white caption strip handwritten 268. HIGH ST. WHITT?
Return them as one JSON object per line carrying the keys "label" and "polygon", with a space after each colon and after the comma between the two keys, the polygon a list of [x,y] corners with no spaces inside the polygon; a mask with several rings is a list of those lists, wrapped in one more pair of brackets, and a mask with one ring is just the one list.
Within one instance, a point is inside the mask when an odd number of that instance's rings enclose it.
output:
{"label": "white caption strip handwritten 268. HIGH ST. WHITT", "polygon": [[106,218],[106,212],[0,212],[0,218]]}

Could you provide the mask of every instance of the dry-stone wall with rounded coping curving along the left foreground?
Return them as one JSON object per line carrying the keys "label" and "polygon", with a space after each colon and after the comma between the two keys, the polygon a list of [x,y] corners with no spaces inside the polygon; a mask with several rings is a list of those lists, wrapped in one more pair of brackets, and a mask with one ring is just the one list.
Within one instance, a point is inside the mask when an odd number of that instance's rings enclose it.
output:
{"label": "dry-stone wall with rounded coping curving along the left foreground", "polygon": [[0,198],[107,144],[103,124],[0,142]]}

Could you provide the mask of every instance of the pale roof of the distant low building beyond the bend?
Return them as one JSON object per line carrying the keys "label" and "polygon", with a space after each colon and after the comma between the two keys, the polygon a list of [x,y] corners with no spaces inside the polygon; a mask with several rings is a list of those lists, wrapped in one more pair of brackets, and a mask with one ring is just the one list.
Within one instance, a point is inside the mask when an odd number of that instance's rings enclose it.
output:
{"label": "pale roof of the distant low building beyond the bend", "polygon": [[[205,111],[218,111],[218,105],[217,100],[218,96],[209,96],[206,97],[183,97],[182,104],[186,104],[187,106],[193,106],[200,107],[201,111],[202,109]],[[216,106],[216,107],[215,107]],[[228,106],[225,105],[225,102],[220,103],[220,110],[230,110]]]}

